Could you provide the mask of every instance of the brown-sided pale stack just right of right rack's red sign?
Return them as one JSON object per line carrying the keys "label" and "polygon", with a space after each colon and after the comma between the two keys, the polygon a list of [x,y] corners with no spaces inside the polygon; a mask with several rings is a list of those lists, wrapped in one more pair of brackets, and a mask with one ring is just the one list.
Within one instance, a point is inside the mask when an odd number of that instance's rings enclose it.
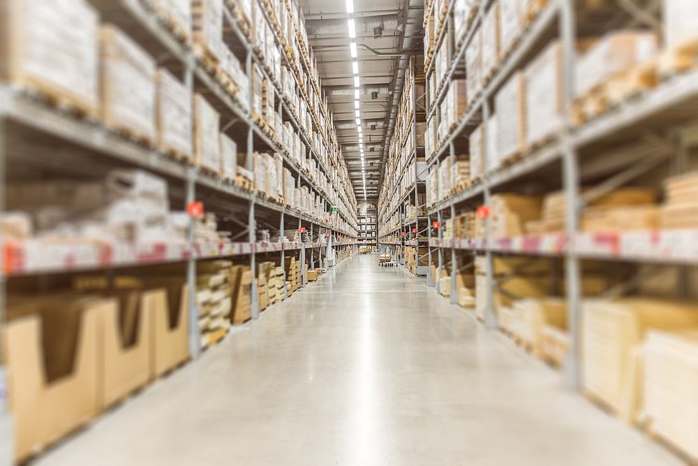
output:
{"label": "brown-sided pale stack just right of right rack's red sign", "polygon": [[525,225],[540,218],[541,200],[537,196],[496,194],[490,200],[491,235],[494,238],[520,236]]}

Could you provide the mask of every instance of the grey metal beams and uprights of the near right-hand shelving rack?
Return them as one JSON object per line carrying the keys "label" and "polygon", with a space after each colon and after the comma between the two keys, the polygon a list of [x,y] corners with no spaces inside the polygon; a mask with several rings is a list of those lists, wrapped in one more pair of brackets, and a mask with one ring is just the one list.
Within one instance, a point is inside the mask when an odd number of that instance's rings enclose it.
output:
{"label": "grey metal beams and uprights of the near right-hand shelving rack", "polygon": [[[434,92],[432,108],[428,112],[429,118],[439,117],[436,108],[445,97],[447,83],[456,75],[465,72],[465,50],[473,36],[484,21],[484,15],[493,3],[491,0],[480,2],[479,10],[473,18],[466,39],[454,52],[449,50],[451,66],[447,70],[443,80],[436,84],[438,89],[429,89]],[[698,238],[698,231],[643,231],[643,232],[615,232],[604,235],[603,241],[595,238],[595,235],[584,233],[580,229],[579,217],[584,206],[584,198],[580,194],[583,172],[581,164],[593,167],[597,160],[591,160],[595,152],[617,150],[619,141],[625,145],[637,144],[637,140],[644,140],[651,134],[656,136],[659,132],[688,124],[691,119],[698,117],[698,71],[689,71],[683,75],[676,75],[671,79],[661,82],[657,87],[643,92],[634,99],[618,105],[597,117],[591,122],[581,126],[574,126],[570,120],[570,107],[573,99],[574,69],[577,63],[576,42],[579,27],[584,21],[584,27],[591,23],[583,20],[579,15],[572,0],[549,0],[535,19],[521,32],[521,36],[513,50],[507,54],[497,66],[494,75],[484,83],[483,89],[475,96],[466,109],[465,114],[456,124],[443,142],[429,156],[429,166],[434,166],[439,160],[451,157],[455,160],[456,143],[461,142],[473,132],[480,122],[487,122],[491,115],[493,97],[506,80],[524,66],[530,57],[542,45],[557,39],[563,46],[565,62],[563,74],[563,129],[550,143],[524,154],[521,159],[506,166],[488,170],[480,182],[471,184],[470,187],[444,201],[440,201],[429,209],[429,223],[440,222],[441,228],[429,231],[429,251],[435,252],[436,258],[429,255],[429,263],[436,263],[438,267],[437,277],[449,259],[456,264],[456,251],[468,251],[472,254],[483,255],[487,259],[487,277],[489,292],[487,296],[487,309],[484,325],[487,328],[497,328],[498,322],[493,309],[493,295],[496,282],[493,280],[493,255],[494,254],[523,254],[527,256],[559,257],[565,263],[566,301],[568,306],[568,321],[570,322],[570,353],[565,361],[563,377],[570,388],[579,391],[581,389],[581,363],[579,354],[580,321],[581,321],[581,268],[580,263],[584,259],[602,259],[607,261],[635,261],[663,264],[692,264],[698,263],[698,251],[689,245]],[[449,7],[449,12],[452,6]],[[602,24],[601,22],[593,22]],[[449,16],[445,27],[452,27],[452,18]],[[604,32],[604,31],[602,31]],[[442,41],[444,31],[439,32],[438,41]],[[438,42],[437,42],[438,43]],[[427,70],[427,78],[433,72],[433,66]],[[429,80],[427,80],[429,82]],[[438,120],[437,120],[438,121]],[[678,147],[691,144],[698,145],[693,136],[692,141],[687,141],[688,133],[681,133],[679,139],[683,142],[674,143],[669,138],[662,138],[661,143],[676,148],[677,157],[681,154]],[[676,137],[676,133],[671,133]],[[483,139],[486,140],[484,135]],[[659,144],[661,144],[659,143]],[[487,145],[484,148],[487,151]],[[657,147],[657,146],[655,146]],[[684,151],[685,154],[685,151]],[[487,156],[483,154],[487,161]],[[634,161],[641,159],[635,158]],[[681,161],[677,162],[679,166]],[[487,163],[486,163],[487,164]],[[630,166],[630,168],[628,168]],[[685,167],[685,163],[683,163]],[[618,166],[630,173],[632,162],[626,166]],[[454,238],[443,239],[444,219],[453,219],[456,209],[475,210],[479,205],[488,205],[493,192],[503,189],[512,189],[514,183],[526,182],[526,177],[535,173],[548,170],[547,176],[559,173],[558,180],[565,192],[566,227],[564,233],[534,235],[521,238],[491,238],[490,219],[486,219],[484,238]],[[606,189],[615,189],[623,184],[622,177],[612,177],[604,183]],[[609,240],[609,238],[611,238]],[[448,258],[447,256],[450,256]],[[451,300],[457,300],[454,290],[456,268],[452,267]],[[438,287],[429,277],[429,285]]]}

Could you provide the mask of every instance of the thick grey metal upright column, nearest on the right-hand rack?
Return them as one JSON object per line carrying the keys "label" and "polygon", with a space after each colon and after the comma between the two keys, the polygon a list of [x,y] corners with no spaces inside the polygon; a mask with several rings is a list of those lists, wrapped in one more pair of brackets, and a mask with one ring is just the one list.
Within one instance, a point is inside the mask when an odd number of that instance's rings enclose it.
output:
{"label": "thick grey metal upright column, nearest on the right-hand rack", "polygon": [[577,253],[574,251],[574,238],[579,231],[579,210],[581,198],[579,196],[579,166],[577,163],[577,151],[572,144],[570,108],[574,99],[574,73],[576,57],[577,31],[574,26],[574,2],[572,0],[560,0],[560,35],[565,50],[565,66],[563,79],[563,115],[565,115],[565,131],[561,136],[563,148],[563,188],[567,205],[566,233],[567,254],[565,256],[565,277],[567,291],[567,321],[570,326],[570,352],[565,358],[563,374],[565,384],[574,390],[581,388],[581,265]]}

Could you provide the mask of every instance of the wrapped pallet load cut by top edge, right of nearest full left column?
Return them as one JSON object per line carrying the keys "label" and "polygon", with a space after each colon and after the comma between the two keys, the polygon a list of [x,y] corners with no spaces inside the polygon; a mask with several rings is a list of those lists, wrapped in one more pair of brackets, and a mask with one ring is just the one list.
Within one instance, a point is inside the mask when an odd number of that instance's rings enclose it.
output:
{"label": "wrapped pallet load cut by top edge, right of nearest full left column", "polygon": [[194,48],[214,64],[223,60],[223,0],[192,0]]}

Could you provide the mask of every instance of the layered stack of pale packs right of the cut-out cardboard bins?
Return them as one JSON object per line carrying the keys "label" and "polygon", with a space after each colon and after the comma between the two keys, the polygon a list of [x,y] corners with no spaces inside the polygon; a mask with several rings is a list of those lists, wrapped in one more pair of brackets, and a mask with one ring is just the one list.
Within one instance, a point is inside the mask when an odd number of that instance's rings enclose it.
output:
{"label": "layered stack of pale packs right of the cut-out cardboard bins", "polygon": [[223,340],[230,329],[231,267],[230,261],[207,261],[197,265],[196,307],[202,348]]}

